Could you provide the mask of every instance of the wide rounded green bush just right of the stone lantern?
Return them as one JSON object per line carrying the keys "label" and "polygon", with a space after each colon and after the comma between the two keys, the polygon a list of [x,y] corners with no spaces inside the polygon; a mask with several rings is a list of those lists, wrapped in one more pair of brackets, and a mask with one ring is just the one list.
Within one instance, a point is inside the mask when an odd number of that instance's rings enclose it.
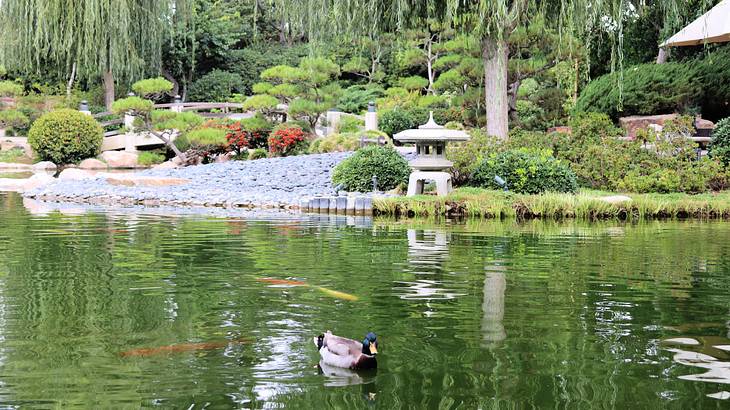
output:
{"label": "wide rounded green bush just right of the stone lantern", "polygon": [[515,150],[493,154],[474,170],[471,184],[489,189],[502,189],[495,176],[507,181],[512,192],[575,192],[578,181],[569,166],[553,158],[549,151]]}

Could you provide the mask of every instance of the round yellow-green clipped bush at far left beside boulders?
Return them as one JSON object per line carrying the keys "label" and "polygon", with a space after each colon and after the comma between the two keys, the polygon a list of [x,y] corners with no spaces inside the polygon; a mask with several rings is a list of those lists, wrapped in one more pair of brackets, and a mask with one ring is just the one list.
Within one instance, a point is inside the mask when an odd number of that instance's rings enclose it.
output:
{"label": "round yellow-green clipped bush at far left beside boulders", "polygon": [[72,109],[38,118],[28,132],[28,144],[44,161],[70,164],[101,151],[104,130],[91,116]]}

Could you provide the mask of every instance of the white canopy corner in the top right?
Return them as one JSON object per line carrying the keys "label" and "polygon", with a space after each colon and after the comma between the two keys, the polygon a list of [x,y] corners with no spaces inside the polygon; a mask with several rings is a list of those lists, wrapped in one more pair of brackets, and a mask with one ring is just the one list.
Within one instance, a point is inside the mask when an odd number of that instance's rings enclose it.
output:
{"label": "white canopy corner in the top right", "polygon": [[664,49],[726,41],[730,41],[730,0],[722,0],[659,47]]}

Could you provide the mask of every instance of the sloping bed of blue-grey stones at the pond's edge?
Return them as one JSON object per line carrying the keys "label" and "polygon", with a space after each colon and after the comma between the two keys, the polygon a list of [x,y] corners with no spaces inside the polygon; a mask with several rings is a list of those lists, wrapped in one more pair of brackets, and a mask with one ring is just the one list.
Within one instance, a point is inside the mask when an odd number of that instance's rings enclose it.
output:
{"label": "sloping bed of blue-grey stones at the pond's edge", "polygon": [[104,178],[58,180],[26,197],[112,205],[182,205],[293,208],[314,196],[336,195],[331,173],[352,153],[300,155],[255,161],[230,161],[138,175],[185,178],[179,186],[119,186]]}

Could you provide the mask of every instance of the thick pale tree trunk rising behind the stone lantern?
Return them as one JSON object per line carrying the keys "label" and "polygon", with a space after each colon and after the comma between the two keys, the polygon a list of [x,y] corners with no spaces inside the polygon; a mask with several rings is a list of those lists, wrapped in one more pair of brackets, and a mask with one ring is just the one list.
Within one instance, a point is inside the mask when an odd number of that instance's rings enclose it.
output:
{"label": "thick pale tree trunk rising behind the stone lantern", "polygon": [[504,40],[486,38],[482,42],[487,134],[501,139],[506,139],[509,134],[508,53],[509,48]]}

